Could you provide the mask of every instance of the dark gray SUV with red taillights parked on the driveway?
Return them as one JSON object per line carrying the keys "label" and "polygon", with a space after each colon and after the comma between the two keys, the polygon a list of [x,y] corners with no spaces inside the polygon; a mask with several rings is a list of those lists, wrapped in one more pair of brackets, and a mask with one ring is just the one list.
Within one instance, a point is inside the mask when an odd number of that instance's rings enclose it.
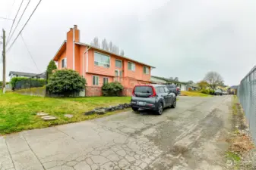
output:
{"label": "dark gray SUV with red taillights parked on the driveway", "polygon": [[131,108],[155,110],[162,114],[165,107],[176,107],[176,96],[166,85],[136,85],[132,91]]}

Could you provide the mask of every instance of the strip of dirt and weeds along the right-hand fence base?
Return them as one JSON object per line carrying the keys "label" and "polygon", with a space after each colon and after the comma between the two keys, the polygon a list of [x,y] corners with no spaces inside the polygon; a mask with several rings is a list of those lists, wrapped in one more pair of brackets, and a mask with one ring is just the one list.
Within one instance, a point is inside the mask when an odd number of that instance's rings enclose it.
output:
{"label": "strip of dirt and weeds along the right-hand fence base", "polygon": [[254,143],[251,140],[245,114],[236,96],[232,99],[232,133],[226,138],[229,151],[226,152],[227,165],[231,169],[256,169],[253,165],[255,155]]}

